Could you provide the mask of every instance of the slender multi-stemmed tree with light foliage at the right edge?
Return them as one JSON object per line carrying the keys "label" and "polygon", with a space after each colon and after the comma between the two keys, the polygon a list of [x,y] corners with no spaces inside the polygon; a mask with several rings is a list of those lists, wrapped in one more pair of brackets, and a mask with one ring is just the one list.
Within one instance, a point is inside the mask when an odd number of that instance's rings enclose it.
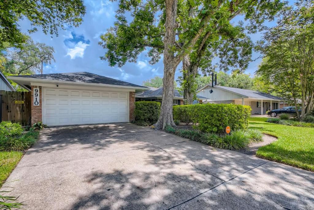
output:
{"label": "slender multi-stemmed tree with light foliage at the right edge", "polygon": [[298,106],[300,120],[314,108],[314,1],[298,1],[286,7],[277,26],[260,43],[264,61],[257,73],[281,88]]}

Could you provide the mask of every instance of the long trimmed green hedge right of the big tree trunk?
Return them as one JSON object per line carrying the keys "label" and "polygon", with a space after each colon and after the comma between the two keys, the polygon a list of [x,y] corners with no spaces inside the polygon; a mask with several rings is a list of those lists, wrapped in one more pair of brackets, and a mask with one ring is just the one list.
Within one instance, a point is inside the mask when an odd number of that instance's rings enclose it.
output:
{"label": "long trimmed green hedge right of the big tree trunk", "polygon": [[193,122],[202,132],[222,133],[227,126],[231,131],[247,128],[251,107],[234,104],[195,104],[173,107],[173,117],[181,122]]}

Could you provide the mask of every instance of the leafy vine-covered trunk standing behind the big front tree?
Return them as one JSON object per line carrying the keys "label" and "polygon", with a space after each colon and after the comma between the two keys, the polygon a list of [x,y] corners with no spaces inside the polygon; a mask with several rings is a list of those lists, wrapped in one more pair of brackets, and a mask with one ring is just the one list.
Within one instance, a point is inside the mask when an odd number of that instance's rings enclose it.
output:
{"label": "leafy vine-covered trunk standing behind the big front tree", "polygon": [[198,66],[193,65],[193,63],[190,62],[189,55],[186,55],[182,60],[182,68],[183,81],[185,81],[183,85],[183,101],[184,104],[192,104],[195,92],[193,86],[195,83]]}

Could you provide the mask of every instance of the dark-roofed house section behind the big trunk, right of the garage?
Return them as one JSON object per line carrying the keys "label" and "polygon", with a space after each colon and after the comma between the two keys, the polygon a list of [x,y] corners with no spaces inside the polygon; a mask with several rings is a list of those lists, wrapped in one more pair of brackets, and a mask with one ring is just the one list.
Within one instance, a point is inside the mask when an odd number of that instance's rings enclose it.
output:
{"label": "dark-roofed house section behind the big trunk, right of the garage", "polygon": [[[163,88],[150,88],[149,90],[145,90],[142,92],[138,92],[135,94],[135,101],[145,100],[145,101],[162,101],[162,92]],[[196,96],[198,99],[198,103],[202,103],[203,100],[206,100],[206,97]],[[173,92],[173,105],[183,105],[183,94],[178,90],[174,90]]]}

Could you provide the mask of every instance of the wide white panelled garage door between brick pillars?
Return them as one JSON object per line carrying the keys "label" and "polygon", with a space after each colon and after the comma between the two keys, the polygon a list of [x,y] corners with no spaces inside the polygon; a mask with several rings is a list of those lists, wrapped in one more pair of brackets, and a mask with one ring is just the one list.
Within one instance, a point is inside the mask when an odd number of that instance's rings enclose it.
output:
{"label": "wide white panelled garage door between brick pillars", "polygon": [[128,122],[128,92],[43,88],[48,126]]}

